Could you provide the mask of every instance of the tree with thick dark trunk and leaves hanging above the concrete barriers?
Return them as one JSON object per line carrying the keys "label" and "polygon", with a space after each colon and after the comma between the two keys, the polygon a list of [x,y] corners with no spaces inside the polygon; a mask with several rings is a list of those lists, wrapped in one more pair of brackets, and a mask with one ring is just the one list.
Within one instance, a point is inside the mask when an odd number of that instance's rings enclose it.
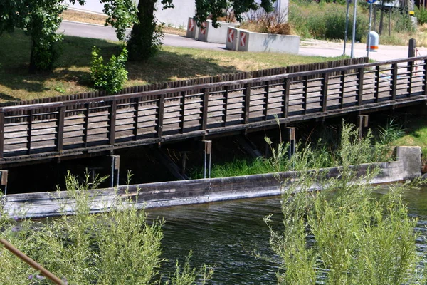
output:
{"label": "tree with thick dark trunk and leaves hanging above the concrete barriers", "polygon": [[[249,10],[256,10],[262,7],[265,11],[273,11],[275,0],[261,0],[258,4],[255,0],[195,0],[196,15],[194,19],[200,26],[211,16],[212,25],[217,28],[218,18],[226,16],[226,9],[233,8],[234,15],[238,21],[242,21],[242,14]],[[159,51],[162,45],[162,31],[157,25],[154,17],[157,0],[139,0],[138,20],[132,28],[130,41],[127,43],[130,61],[146,60]],[[172,0],[162,0],[163,9],[173,8]]]}

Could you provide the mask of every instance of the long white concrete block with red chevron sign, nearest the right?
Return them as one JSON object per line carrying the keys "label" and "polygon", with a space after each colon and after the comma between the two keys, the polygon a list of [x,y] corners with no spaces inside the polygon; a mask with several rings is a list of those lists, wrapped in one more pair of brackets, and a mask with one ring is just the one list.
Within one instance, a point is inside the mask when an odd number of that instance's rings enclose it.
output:
{"label": "long white concrete block with red chevron sign, nearest the right", "polygon": [[300,37],[239,31],[238,51],[270,51],[295,53],[300,51]]}

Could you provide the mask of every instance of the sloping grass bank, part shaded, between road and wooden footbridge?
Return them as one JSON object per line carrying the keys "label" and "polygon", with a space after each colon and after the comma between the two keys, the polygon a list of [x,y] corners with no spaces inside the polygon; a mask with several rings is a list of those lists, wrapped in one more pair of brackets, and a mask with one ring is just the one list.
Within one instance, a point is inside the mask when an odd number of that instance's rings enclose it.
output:
{"label": "sloping grass bank, part shaded, between road and wooden footbridge", "polygon": [[[118,53],[121,47],[112,41],[65,36],[58,47],[61,53],[53,73],[28,74],[30,39],[16,31],[0,36],[0,42],[0,102],[92,91],[89,76],[92,47],[101,48],[104,58]],[[127,63],[129,81],[125,87],[334,59],[337,58],[164,46],[145,63]]]}

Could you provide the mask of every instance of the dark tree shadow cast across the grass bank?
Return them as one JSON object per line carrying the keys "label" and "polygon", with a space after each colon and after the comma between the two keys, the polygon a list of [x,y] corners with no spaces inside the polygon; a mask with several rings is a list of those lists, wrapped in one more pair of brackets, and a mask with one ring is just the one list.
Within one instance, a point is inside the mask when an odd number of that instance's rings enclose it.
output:
{"label": "dark tree shadow cast across the grass bank", "polygon": [[[112,54],[117,55],[122,50],[120,43],[95,38],[64,36],[63,42],[58,45],[60,56],[56,61],[56,69],[53,73],[29,74],[30,38],[25,36],[22,31],[16,31],[12,36],[1,36],[0,41],[2,42],[0,93],[3,92],[2,94],[11,98],[10,100],[24,96],[18,94],[19,90],[23,90],[22,93],[40,93],[41,97],[58,95],[53,93],[52,88],[63,83],[80,86],[84,89],[90,88],[92,86],[89,71],[93,46],[100,48],[105,61]],[[130,81],[141,81],[141,83],[159,83],[181,78],[238,72],[234,66],[220,66],[218,61],[212,58],[196,58],[189,53],[169,51],[160,51],[146,62],[127,63],[127,70]],[[5,91],[5,88],[2,90],[1,86],[5,86],[6,90],[16,90],[16,93],[7,94],[10,91]],[[36,95],[36,97],[38,96]],[[5,100],[9,100],[6,97]]]}

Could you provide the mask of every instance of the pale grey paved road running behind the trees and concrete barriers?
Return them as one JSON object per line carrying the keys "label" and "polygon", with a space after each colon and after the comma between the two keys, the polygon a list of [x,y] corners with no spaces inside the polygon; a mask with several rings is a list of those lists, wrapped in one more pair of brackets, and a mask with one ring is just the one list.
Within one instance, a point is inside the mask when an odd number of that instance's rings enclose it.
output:
{"label": "pale grey paved road running behind the trees and concrete barriers", "polygon": [[[107,26],[99,26],[93,24],[81,24],[70,21],[63,21],[59,32],[65,33],[68,36],[82,36],[86,38],[101,38],[111,41],[117,41],[113,28]],[[129,31],[128,31],[129,32]],[[206,48],[213,50],[226,51],[224,44],[206,43],[196,41],[192,38],[184,36],[165,35],[163,39],[165,46],[181,46],[186,48]],[[354,56],[367,56],[365,51],[366,44],[356,43],[354,46]],[[346,54],[350,55],[351,45],[347,44]],[[341,56],[343,51],[343,43],[331,43],[327,41],[301,41],[300,55],[302,56]],[[427,55],[427,48],[418,48],[418,54],[421,56]],[[379,45],[379,51],[370,52],[369,58],[375,61],[386,61],[391,59],[406,58],[408,56],[408,48],[406,46],[384,46]]]}

